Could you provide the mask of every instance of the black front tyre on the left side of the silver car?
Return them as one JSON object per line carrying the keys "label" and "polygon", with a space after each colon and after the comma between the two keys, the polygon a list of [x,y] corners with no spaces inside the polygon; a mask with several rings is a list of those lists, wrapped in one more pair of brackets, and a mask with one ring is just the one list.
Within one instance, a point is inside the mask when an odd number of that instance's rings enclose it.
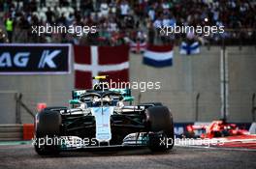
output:
{"label": "black front tyre on the left side of the silver car", "polygon": [[35,151],[38,155],[58,154],[57,136],[60,134],[61,115],[43,110],[35,117]]}

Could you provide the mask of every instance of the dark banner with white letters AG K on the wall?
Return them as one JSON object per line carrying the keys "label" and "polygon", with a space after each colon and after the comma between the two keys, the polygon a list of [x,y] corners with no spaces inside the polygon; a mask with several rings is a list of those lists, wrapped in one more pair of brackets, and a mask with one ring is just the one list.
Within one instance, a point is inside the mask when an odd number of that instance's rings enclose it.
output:
{"label": "dark banner with white letters AG K on the wall", "polygon": [[70,62],[71,44],[0,44],[0,74],[64,74]]}

